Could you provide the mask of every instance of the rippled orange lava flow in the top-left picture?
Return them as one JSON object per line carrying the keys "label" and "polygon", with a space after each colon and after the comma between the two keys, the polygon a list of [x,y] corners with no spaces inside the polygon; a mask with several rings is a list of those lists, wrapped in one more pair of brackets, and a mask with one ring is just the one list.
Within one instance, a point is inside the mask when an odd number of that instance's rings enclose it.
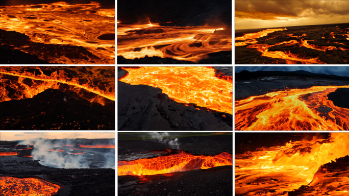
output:
{"label": "rippled orange lava flow in the top-left picture", "polygon": [[35,54],[26,45],[15,47],[51,63],[115,63],[115,9],[102,9],[97,2],[0,6],[0,29],[24,33],[33,42],[83,46],[97,57],[72,60],[69,55]]}

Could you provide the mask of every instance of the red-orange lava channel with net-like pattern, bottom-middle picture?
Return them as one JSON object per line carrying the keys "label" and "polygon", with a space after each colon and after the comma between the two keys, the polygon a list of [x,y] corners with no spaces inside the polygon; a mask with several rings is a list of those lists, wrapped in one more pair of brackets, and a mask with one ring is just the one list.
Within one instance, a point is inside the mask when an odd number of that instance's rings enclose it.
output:
{"label": "red-orange lava channel with net-like pattern, bottom-middle picture", "polygon": [[233,155],[221,153],[216,156],[194,156],[185,152],[177,155],[160,156],[151,159],[118,161],[117,175],[156,175],[176,171],[208,169],[211,167],[233,165]]}

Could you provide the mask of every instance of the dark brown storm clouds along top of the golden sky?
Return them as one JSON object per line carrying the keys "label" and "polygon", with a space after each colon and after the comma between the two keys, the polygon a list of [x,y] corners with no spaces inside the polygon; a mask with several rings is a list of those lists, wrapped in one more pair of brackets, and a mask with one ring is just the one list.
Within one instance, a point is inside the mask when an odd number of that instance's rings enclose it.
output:
{"label": "dark brown storm clouds along top of the golden sky", "polygon": [[273,20],[278,17],[309,17],[319,14],[347,15],[349,1],[240,1],[235,2],[236,17]]}

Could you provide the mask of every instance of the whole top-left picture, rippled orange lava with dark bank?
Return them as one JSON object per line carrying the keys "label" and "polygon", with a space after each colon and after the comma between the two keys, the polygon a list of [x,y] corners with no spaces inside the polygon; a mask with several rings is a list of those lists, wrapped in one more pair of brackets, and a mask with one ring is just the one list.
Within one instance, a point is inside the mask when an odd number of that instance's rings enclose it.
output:
{"label": "whole top-left picture, rippled orange lava with dark bank", "polygon": [[0,64],[115,64],[115,2],[2,1]]}

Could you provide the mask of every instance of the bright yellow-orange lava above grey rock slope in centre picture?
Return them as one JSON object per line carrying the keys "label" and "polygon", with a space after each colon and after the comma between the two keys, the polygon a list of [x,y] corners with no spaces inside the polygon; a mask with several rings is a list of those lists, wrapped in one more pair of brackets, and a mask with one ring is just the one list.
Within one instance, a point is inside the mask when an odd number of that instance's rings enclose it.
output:
{"label": "bright yellow-orange lava above grey rock slope in centre picture", "polygon": [[201,107],[233,114],[230,81],[218,79],[208,67],[123,67],[129,75],[120,79],[129,84],[158,87],[171,99],[180,103],[194,103]]}

